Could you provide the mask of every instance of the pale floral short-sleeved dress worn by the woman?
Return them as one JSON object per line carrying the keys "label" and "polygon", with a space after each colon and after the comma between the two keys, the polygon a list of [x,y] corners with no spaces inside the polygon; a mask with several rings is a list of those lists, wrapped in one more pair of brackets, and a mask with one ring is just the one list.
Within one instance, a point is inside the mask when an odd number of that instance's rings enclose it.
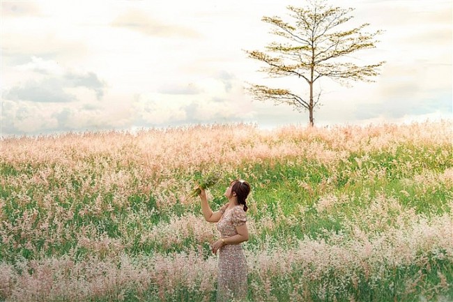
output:
{"label": "pale floral short-sleeved dress worn by the woman", "polygon": [[[236,227],[247,221],[243,205],[227,209],[224,204],[217,230],[222,238],[237,235]],[[217,302],[243,301],[247,297],[247,262],[241,244],[227,244],[219,250]]]}

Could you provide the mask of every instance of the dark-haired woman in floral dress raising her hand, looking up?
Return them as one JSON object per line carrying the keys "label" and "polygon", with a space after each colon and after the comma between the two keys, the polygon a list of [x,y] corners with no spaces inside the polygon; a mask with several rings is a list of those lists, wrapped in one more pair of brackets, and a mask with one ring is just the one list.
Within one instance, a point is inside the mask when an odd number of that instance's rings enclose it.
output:
{"label": "dark-haired woman in floral dress raising her hand, looking up", "polygon": [[[200,188],[201,189],[201,188]],[[247,204],[250,192],[247,181],[231,181],[224,195],[229,202],[219,211],[211,211],[206,192],[201,189],[201,210],[208,222],[217,222],[220,239],[212,246],[214,254],[219,251],[217,302],[243,301],[247,297],[247,262],[240,243],[249,240],[247,230]]]}

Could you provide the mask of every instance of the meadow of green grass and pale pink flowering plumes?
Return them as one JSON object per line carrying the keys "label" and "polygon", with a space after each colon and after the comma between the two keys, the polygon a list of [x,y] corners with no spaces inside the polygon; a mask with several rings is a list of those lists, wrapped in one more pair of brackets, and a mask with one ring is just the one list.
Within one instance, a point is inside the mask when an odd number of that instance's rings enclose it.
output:
{"label": "meadow of green grass and pale pink flowering plumes", "polygon": [[249,301],[453,301],[452,121],[10,137],[0,301],[215,301],[215,224],[247,199]]}

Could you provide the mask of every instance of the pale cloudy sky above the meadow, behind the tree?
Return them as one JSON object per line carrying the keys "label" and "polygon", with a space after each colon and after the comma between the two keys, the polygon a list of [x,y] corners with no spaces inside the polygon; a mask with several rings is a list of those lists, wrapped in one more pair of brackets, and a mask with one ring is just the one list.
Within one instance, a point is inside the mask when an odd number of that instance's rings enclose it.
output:
{"label": "pale cloudy sky above the meadow, behind the tree", "polygon": [[[1,136],[197,123],[307,125],[307,112],[252,99],[269,79],[244,50],[275,40],[263,16],[293,0],[3,1]],[[334,3],[334,1],[332,1]],[[321,80],[319,126],[452,119],[452,2],[335,0],[351,27],[382,29],[358,63],[387,61],[374,83]]]}

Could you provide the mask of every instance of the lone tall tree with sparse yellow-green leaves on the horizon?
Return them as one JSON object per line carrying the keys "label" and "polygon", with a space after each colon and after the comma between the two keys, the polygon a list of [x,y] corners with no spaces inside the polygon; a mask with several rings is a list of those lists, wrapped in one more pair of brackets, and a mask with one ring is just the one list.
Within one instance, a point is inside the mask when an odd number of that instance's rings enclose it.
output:
{"label": "lone tall tree with sparse yellow-green leaves on the horizon", "polygon": [[272,42],[266,47],[266,52],[246,51],[249,58],[267,64],[260,71],[270,77],[293,76],[307,82],[308,100],[289,89],[257,84],[252,84],[249,91],[257,100],[270,99],[277,104],[293,105],[299,112],[308,110],[310,126],[314,126],[313,110],[321,96],[319,93],[314,100],[313,84],[317,80],[329,77],[341,84],[348,84],[349,80],[374,82],[369,78],[378,75],[378,68],[385,63],[358,66],[348,61],[350,54],[376,47],[378,41],[374,39],[381,31],[364,32],[368,23],[345,29],[344,24],[351,20],[353,16],[350,13],[354,9],[327,6],[326,3],[309,0],[305,8],[287,6],[293,24],[280,17],[263,17],[263,22],[272,25],[271,33],[282,37],[286,43]]}

